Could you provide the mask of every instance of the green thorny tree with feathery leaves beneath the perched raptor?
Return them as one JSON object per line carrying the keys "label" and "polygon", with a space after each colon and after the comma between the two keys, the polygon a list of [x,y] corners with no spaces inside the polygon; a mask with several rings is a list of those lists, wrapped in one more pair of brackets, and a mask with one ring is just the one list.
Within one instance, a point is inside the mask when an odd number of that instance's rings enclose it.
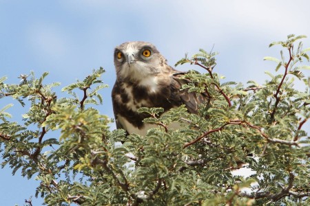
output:
{"label": "green thorny tree with feathery leaves beneath the perched raptor", "polygon": [[[192,80],[183,89],[207,93],[199,114],[185,106],[163,113],[162,108],[141,108],[154,124],[145,137],[110,130],[111,119],[101,115],[99,91],[103,68],[83,81],[62,89],[67,98],[52,91],[59,83],[43,84],[48,73],[21,76],[19,84],[0,80],[0,97],[12,97],[29,110],[23,122],[11,122],[0,110],[2,167],[13,174],[37,176],[36,196],[48,205],[309,205],[309,137],[304,123],[310,117],[309,80],[302,65],[310,48],[300,38],[271,43],[285,50],[276,62],[276,75],[247,87],[223,82],[213,71],[215,53],[200,49],[190,63],[207,73],[189,71]],[[299,42],[299,43],[298,43]],[[297,46],[296,46],[297,45]],[[295,78],[304,91],[293,88]],[[82,94],[79,98],[78,94]],[[171,122],[183,128],[169,128]],[[47,136],[60,131],[59,138]],[[118,142],[124,142],[120,144]],[[251,168],[245,178],[231,170]],[[243,190],[251,187],[251,191]]]}

